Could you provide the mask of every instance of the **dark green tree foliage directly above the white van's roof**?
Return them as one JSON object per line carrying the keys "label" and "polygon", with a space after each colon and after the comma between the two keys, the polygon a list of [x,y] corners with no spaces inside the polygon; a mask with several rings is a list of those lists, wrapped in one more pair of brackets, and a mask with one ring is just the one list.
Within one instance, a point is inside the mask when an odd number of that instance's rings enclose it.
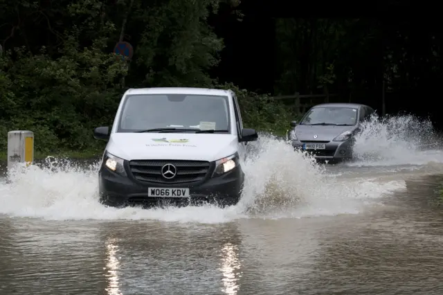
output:
{"label": "dark green tree foliage directly above the white van's roof", "polygon": [[129,28],[144,28],[136,48],[136,64],[146,72],[142,83],[207,87],[212,82],[207,70],[218,64],[224,45],[206,20],[220,2],[172,0],[153,7],[135,1]]}

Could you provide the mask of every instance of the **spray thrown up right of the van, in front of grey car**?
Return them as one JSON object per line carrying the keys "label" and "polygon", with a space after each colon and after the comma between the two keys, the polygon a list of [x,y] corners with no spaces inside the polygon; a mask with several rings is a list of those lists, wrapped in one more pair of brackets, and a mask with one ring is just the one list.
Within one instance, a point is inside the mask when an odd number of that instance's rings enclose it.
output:
{"label": "spray thrown up right of the van, in front of grey car", "polygon": [[263,137],[256,148],[255,157],[244,165],[248,177],[239,204],[250,216],[358,213],[366,202],[404,185],[403,181],[338,179],[314,157],[294,152],[291,145],[275,138]]}

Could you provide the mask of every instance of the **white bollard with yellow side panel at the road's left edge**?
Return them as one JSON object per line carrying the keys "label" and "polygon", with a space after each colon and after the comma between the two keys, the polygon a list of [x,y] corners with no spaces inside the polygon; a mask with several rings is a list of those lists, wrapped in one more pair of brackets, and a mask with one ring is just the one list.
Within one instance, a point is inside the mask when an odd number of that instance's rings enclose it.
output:
{"label": "white bollard with yellow side panel at the road's left edge", "polygon": [[34,132],[15,130],[8,132],[8,170],[17,163],[34,161]]}

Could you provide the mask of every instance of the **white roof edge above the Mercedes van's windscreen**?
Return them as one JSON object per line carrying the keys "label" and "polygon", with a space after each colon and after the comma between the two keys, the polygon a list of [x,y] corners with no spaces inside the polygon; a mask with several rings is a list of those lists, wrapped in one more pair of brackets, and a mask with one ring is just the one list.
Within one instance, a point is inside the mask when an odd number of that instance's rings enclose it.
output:
{"label": "white roof edge above the Mercedes van's windscreen", "polygon": [[131,88],[126,94],[197,94],[210,96],[229,96],[231,90],[192,88],[192,87],[153,87],[153,88]]}

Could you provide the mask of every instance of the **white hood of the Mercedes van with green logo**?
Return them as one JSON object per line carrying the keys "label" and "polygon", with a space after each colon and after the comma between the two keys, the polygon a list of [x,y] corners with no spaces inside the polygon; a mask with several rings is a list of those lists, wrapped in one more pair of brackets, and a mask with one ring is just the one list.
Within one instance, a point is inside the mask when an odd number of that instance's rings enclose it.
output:
{"label": "white hood of the Mercedes van with green logo", "polygon": [[125,160],[216,161],[237,152],[232,134],[113,133],[107,151]]}

